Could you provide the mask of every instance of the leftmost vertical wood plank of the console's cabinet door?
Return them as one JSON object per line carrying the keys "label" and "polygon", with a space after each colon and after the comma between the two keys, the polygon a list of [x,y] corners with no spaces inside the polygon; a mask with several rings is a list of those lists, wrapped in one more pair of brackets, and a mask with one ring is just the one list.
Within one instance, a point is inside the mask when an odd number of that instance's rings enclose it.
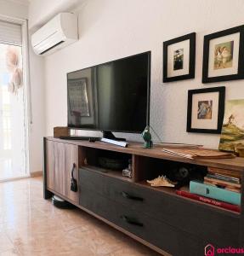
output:
{"label": "leftmost vertical wood plank of the console's cabinet door", "polygon": [[46,176],[47,188],[55,189],[55,172],[54,172],[54,142],[46,141]]}

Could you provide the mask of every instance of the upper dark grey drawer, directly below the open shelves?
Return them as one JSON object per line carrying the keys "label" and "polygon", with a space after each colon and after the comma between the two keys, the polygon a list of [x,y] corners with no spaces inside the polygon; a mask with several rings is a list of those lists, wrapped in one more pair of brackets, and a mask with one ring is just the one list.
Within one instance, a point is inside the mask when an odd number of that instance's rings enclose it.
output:
{"label": "upper dark grey drawer, directly below the open shelves", "polygon": [[85,169],[80,171],[80,184],[81,189],[94,190],[124,208],[195,234],[203,241],[219,246],[238,246],[240,217],[231,212]]}

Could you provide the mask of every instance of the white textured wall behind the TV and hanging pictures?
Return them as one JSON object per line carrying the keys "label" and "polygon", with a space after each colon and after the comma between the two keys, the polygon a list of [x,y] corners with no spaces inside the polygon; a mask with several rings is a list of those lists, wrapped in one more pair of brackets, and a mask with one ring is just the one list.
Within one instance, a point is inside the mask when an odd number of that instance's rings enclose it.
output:
{"label": "white textured wall behind the TV and hanging pictures", "polygon": [[[66,125],[66,73],[151,50],[150,124],[163,141],[218,147],[218,135],[187,133],[187,91],[226,86],[244,97],[244,81],[201,84],[203,36],[244,23],[242,0],[91,0],[79,10],[80,40],[45,59],[47,135]],[[162,42],[196,32],[196,79],[162,83]],[[155,137],[156,138],[156,137]]]}

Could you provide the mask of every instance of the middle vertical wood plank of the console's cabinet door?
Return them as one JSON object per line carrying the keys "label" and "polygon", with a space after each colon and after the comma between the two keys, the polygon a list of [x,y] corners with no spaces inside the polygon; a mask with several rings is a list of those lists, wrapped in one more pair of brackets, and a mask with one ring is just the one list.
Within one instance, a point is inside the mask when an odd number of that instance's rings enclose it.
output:
{"label": "middle vertical wood plank of the console's cabinet door", "polygon": [[65,195],[65,143],[54,142],[54,190]]}

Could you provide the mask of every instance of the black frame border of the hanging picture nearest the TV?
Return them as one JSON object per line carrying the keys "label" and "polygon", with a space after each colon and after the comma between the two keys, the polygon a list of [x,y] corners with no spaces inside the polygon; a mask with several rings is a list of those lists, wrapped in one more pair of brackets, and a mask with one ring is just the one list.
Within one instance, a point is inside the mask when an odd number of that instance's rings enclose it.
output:
{"label": "black frame border of the hanging picture nearest the TV", "polygon": [[[189,73],[179,75],[175,77],[167,77],[167,47],[171,44],[177,44],[179,42],[190,39],[190,56],[189,56]],[[181,36],[179,38],[173,38],[171,40],[163,42],[163,82],[173,82],[184,79],[195,78],[195,61],[196,61],[196,32]]]}

